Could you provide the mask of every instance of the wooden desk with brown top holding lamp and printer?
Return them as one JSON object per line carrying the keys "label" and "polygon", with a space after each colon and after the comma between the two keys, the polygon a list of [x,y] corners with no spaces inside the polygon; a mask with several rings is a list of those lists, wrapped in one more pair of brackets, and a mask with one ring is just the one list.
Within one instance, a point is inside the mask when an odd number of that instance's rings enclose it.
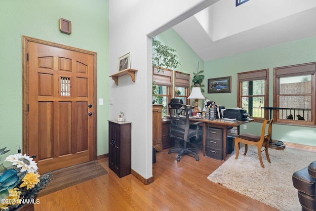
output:
{"label": "wooden desk with brown top holding lamp and printer", "polygon": [[216,127],[223,129],[223,160],[226,160],[226,141],[227,141],[227,127],[237,127],[237,134],[239,134],[239,126],[245,123],[249,123],[250,121],[238,121],[238,122],[224,122],[222,120],[207,120],[207,119],[190,119],[191,122],[203,122],[200,124],[203,127],[203,156],[205,156],[206,150],[206,127]]}

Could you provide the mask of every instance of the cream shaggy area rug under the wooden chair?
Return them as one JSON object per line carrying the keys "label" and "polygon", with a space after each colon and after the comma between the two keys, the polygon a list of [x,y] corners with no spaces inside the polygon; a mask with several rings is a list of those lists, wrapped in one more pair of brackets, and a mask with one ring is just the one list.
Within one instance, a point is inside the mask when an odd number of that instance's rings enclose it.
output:
{"label": "cream shaggy area rug under the wooden chair", "polygon": [[316,153],[295,149],[269,149],[271,164],[262,152],[265,168],[261,168],[257,148],[244,147],[236,160],[234,154],[207,178],[280,211],[300,211],[297,190],[293,187],[292,174],[316,160]]}

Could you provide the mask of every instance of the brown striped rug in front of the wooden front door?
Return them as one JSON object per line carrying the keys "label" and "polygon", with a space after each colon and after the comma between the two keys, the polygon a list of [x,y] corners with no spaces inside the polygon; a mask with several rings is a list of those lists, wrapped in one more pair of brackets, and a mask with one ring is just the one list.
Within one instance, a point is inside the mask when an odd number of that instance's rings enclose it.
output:
{"label": "brown striped rug in front of the wooden front door", "polygon": [[40,191],[38,197],[68,188],[81,182],[108,173],[97,161],[90,161],[64,169],[54,170],[52,179],[47,187]]}

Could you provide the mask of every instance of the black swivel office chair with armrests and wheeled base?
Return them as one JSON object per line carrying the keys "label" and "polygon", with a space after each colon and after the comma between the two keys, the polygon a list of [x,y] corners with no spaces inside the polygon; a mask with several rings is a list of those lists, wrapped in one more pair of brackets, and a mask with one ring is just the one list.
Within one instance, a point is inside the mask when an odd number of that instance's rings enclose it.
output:
{"label": "black swivel office chair with armrests and wheeled base", "polygon": [[199,124],[202,122],[197,122],[193,124],[196,128],[190,128],[190,118],[188,114],[188,108],[183,104],[181,99],[173,98],[168,103],[169,114],[170,114],[170,137],[177,138],[183,141],[183,148],[174,148],[168,151],[171,154],[173,151],[180,151],[177,161],[184,154],[193,155],[196,160],[199,160],[198,149],[187,148],[187,144],[190,142],[190,138],[195,137],[198,139],[199,136],[203,136],[203,130],[199,129]]}

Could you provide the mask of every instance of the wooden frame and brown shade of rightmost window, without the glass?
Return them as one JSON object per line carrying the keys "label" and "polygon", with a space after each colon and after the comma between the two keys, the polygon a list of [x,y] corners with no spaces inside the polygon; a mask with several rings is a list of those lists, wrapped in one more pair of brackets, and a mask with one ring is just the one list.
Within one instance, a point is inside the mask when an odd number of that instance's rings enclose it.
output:
{"label": "wooden frame and brown shade of rightmost window, without the glass", "polygon": [[[314,70],[310,70],[312,69]],[[274,68],[274,107],[279,107],[279,97],[280,96],[295,96],[295,94],[279,94],[280,91],[280,78],[286,78],[291,76],[305,76],[311,75],[311,121],[301,121],[301,120],[287,120],[287,119],[279,119],[280,111],[276,110],[273,114],[274,123],[280,125],[292,125],[292,126],[303,126],[303,127],[316,127],[316,62],[298,64],[298,65],[290,65],[284,67],[276,67]],[[313,74],[314,72],[314,74]],[[309,94],[296,94],[297,96],[307,96]]]}

